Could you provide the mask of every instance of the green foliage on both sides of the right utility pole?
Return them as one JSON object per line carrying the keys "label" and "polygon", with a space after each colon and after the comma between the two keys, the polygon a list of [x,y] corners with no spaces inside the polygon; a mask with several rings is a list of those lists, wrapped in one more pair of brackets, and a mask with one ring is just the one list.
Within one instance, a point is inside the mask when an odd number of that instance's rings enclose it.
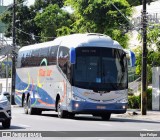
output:
{"label": "green foliage on both sides of the right utility pole", "polygon": [[[148,46],[148,54],[147,54],[147,82],[152,82],[152,67],[160,66],[160,28],[159,25],[154,25],[153,29],[147,29],[147,46]],[[139,35],[139,39],[142,40],[142,35]],[[139,46],[136,50],[136,73],[141,74],[142,67],[142,50]]]}

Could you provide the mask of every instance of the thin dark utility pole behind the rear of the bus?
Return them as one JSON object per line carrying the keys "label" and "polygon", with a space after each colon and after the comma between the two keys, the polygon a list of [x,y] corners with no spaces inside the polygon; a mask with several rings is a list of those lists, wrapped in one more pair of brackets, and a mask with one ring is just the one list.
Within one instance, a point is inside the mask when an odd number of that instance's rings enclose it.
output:
{"label": "thin dark utility pole behind the rear of the bus", "polygon": [[16,19],[16,1],[13,0],[13,26],[12,26],[12,38],[13,38],[13,48],[12,48],[12,95],[11,95],[11,104],[15,104],[14,95],[15,95],[15,47],[16,47],[16,33],[15,33],[15,19]]}

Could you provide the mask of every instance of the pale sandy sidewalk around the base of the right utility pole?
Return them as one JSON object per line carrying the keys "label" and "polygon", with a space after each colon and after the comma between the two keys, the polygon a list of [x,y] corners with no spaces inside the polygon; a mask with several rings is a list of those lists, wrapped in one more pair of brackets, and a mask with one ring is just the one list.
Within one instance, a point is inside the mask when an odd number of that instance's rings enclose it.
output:
{"label": "pale sandy sidewalk around the base of the right utility pole", "polygon": [[128,119],[160,121],[160,111],[147,110],[146,115],[141,115],[141,110],[139,109],[128,109],[125,114],[117,114],[116,116]]}

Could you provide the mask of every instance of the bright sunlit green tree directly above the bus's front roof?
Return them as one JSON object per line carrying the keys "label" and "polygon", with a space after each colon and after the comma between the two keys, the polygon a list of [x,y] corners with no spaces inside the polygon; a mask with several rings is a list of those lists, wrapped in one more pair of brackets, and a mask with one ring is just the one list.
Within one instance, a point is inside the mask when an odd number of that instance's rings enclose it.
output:
{"label": "bright sunlit green tree directly above the bus's front roof", "polygon": [[73,32],[107,34],[127,47],[128,36],[124,33],[130,24],[124,16],[131,16],[132,10],[126,0],[66,0],[65,4],[74,10]]}

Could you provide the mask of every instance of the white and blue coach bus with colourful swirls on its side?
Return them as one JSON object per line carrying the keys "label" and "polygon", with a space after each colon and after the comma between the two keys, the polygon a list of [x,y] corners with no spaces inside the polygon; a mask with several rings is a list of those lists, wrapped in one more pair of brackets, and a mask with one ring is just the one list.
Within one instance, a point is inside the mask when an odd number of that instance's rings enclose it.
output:
{"label": "white and blue coach bus with colourful swirls on its side", "polygon": [[126,52],[109,36],[73,34],[18,52],[15,102],[27,114],[93,114],[109,120],[128,104]]}

